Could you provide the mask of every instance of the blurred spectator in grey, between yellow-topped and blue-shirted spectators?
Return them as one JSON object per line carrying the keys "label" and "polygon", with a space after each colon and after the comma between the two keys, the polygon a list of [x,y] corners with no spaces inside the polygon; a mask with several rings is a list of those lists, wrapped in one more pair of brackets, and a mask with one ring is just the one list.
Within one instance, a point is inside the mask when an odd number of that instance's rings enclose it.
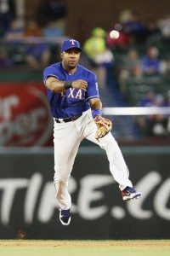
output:
{"label": "blurred spectator in grey, between yellow-topped and blue-shirted spectators", "polygon": [[140,78],[142,76],[142,61],[139,51],[135,48],[127,50],[127,55],[122,57],[118,72],[119,87],[123,95],[127,93],[126,81],[129,78]]}

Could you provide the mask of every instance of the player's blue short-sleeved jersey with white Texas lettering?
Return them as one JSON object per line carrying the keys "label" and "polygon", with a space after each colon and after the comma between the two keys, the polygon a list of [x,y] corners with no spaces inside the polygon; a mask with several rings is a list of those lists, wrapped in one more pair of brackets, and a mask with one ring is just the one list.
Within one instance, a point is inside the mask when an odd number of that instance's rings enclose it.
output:
{"label": "player's blue short-sleeved jersey with white Texas lettering", "polygon": [[48,77],[54,77],[60,81],[82,79],[88,83],[86,91],[71,87],[64,92],[54,93],[46,87],[50,110],[56,119],[65,119],[87,111],[90,108],[88,100],[99,97],[96,75],[79,64],[77,64],[77,72],[70,75],[63,68],[62,62],[54,63],[44,69],[44,84],[46,84]]}

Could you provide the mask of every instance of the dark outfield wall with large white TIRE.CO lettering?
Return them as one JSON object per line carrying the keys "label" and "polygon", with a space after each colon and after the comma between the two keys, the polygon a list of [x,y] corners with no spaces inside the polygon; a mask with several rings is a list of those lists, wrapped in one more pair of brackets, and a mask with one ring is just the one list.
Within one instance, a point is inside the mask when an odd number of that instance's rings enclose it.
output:
{"label": "dark outfield wall with large white TIRE.CO lettering", "polygon": [[59,223],[53,149],[0,151],[0,239],[170,238],[170,147],[122,147],[143,197],[123,202],[105,152],[81,147],[70,179],[72,220]]}

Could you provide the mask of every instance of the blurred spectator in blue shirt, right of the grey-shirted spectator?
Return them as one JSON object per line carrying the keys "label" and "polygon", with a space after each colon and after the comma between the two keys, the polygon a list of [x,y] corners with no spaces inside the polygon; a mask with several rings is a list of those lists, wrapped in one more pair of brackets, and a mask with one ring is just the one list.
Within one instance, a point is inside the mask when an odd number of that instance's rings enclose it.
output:
{"label": "blurred spectator in blue shirt, right of the grey-shirted spectator", "polygon": [[147,48],[146,55],[142,58],[142,69],[145,76],[161,74],[161,59],[158,55],[159,50],[156,47]]}

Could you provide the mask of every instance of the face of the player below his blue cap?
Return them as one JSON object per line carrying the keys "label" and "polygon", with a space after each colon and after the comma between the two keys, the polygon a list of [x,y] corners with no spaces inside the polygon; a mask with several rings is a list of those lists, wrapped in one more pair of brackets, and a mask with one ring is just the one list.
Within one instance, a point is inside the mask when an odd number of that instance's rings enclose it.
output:
{"label": "face of the player below his blue cap", "polygon": [[76,68],[79,58],[80,51],[77,48],[71,48],[61,53],[61,59],[65,70]]}

